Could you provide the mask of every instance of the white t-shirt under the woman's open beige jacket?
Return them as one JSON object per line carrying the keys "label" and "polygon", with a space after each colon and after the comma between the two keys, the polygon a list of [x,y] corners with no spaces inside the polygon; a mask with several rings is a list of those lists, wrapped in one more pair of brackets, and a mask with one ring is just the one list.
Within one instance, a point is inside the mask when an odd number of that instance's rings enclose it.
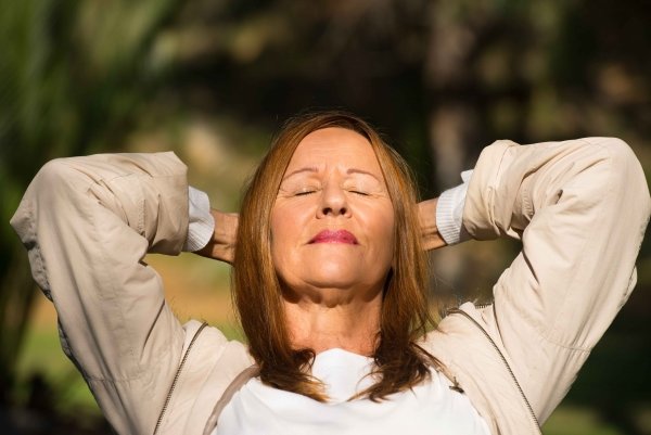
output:
{"label": "white t-shirt under the woman's open beige jacket", "polygon": [[372,362],[336,348],[318,354],[312,375],[326,384],[327,404],[252,379],[225,407],[213,435],[489,435],[468,397],[434,370],[431,381],[380,402],[347,401],[372,384],[366,376]]}

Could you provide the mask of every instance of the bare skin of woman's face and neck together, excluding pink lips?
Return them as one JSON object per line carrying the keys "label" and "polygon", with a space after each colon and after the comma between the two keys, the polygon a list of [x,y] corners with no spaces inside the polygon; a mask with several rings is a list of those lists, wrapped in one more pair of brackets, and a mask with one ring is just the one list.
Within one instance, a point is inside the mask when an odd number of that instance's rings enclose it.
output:
{"label": "bare skin of woman's face and neck together, excluding pink lips", "polygon": [[[271,233],[290,334],[317,353],[371,355],[394,250],[393,204],[378,158],[360,135],[327,128],[304,138],[286,172]],[[358,243],[309,243],[324,229],[349,231]]]}

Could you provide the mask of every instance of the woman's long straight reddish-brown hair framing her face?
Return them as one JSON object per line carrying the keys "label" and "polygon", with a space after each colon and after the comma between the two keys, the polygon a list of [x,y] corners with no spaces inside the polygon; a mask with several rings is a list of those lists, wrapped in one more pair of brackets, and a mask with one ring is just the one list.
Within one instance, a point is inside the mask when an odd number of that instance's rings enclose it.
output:
{"label": "woman's long straight reddish-brown hair framing her face", "polygon": [[312,131],[346,128],[365,137],[384,175],[395,214],[393,268],[384,286],[378,346],[378,380],[360,396],[380,400],[419,384],[438,362],[417,344],[433,324],[427,307],[425,253],[417,214],[416,183],[405,161],[362,119],[340,112],[290,119],[272,141],[244,194],[234,257],[234,299],[250,351],[263,382],[326,401],[309,375],[315,351],[290,342],[281,286],[271,260],[270,216],[285,169],[298,143]]}

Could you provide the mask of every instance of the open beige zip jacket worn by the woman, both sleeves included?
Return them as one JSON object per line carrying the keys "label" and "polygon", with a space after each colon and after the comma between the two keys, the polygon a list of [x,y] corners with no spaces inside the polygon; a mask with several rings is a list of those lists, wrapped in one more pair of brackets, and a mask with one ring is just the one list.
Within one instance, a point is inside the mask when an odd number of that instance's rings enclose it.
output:
{"label": "open beige zip jacket worn by the woman, both sleeves included", "polygon": [[[163,408],[158,434],[202,434],[253,362],[214,328],[187,353],[200,323],[179,323],[142,261],[148,252],[180,252],[187,192],[171,153],[58,159],[11,221],[56,307],[64,351],[119,434],[152,434]],[[464,227],[523,248],[495,284],[494,305],[462,305],[423,345],[494,434],[539,433],[628,298],[650,212],[640,165],[617,139],[498,141],[483,151]]]}

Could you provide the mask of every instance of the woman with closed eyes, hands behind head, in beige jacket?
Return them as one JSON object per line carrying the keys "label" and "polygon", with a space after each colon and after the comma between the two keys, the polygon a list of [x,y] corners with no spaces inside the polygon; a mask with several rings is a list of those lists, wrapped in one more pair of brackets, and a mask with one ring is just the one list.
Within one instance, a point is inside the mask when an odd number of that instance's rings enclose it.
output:
{"label": "woman with closed eyes, hands behind head, in beige jacket", "polygon": [[[635,285],[651,208],[607,138],[498,141],[417,207],[403,161],[337,113],[284,127],[239,219],[190,196],[173,154],[73,157],[12,219],[120,434],[539,433]],[[423,248],[468,236],[523,250],[494,304],[425,334]],[[234,263],[248,347],[169,310],[142,258],[183,247]]]}

